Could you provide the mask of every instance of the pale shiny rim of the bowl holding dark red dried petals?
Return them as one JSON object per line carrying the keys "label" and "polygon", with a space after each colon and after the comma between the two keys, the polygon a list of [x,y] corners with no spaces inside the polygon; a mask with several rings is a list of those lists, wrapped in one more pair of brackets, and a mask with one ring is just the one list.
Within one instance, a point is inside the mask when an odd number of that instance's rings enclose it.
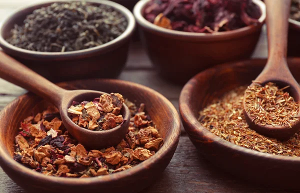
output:
{"label": "pale shiny rim of the bowl holding dark red dried petals", "polygon": [[255,31],[257,28],[260,28],[265,21],[266,11],[265,11],[265,4],[261,0],[252,0],[256,5],[259,6],[261,10],[261,15],[258,18],[259,23],[256,25],[248,25],[245,27],[241,27],[238,29],[230,30],[230,31],[221,31],[221,32],[214,32],[214,33],[197,33],[197,32],[186,32],[186,31],[177,31],[172,29],[166,29],[163,27],[159,27],[154,25],[153,23],[147,21],[143,15],[142,11],[145,5],[150,0],[139,0],[134,8],[133,8],[133,15],[135,17],[136,22],[146,30],[151,32],[155,32],[158,34],[163,34],[171,37],[179,37],[179,38],[196,38],[197,40],[218,40],[224,38],[234,38],[239,37],[244,34],[249,33],[250,31]]}

